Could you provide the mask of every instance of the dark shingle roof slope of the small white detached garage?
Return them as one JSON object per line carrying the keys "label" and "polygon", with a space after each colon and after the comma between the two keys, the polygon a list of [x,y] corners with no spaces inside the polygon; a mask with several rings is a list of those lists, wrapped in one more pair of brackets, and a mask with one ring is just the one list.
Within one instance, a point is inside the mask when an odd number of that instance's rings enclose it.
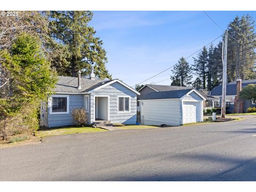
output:
{"label": "dark shingle roof slope of the small white detached garage", "polygon": [[151,92],[142,97],[140,100],[150,100],[150,99],[180,99],[186,95],[191,89],[186,90],[173,90],[173,91],[161,91],[161,92]]}

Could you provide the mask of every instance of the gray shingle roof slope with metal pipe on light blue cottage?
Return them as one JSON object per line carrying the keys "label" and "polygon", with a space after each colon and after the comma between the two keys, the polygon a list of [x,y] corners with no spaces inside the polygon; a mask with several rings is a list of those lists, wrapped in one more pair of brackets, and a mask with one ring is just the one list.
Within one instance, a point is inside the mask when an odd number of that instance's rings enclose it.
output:
{"label": "gray shingle roof slope with metal pipe on light blue cottage", "polygon": [[59,76],[59,81],[55,86],[54,91],[60,93],[81,93],[91,91],[105,83],[113,80],[87,79],[81,78],[81,90],[77,89],[77,77]]}

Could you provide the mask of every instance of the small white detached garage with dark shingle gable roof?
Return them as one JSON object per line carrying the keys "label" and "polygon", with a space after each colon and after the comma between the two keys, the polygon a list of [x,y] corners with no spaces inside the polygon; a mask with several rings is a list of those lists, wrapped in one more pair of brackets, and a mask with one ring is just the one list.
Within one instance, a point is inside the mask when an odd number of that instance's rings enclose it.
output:
{"label": "small white detached garage with dark shingle gable roof", "polygon": [[144,125],[181,125],[203,121],[205,98],[195,89],[151,92],[139,99]]}

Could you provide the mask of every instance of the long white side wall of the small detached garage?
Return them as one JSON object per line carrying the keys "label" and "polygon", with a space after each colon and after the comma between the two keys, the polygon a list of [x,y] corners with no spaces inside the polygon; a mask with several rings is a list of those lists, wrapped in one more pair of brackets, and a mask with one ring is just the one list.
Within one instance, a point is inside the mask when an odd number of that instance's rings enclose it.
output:
{"label": "long white side wall of the small detached garage", "polygon": [[145,125],[180,125],[180,100],[142,100],[141,118]]}

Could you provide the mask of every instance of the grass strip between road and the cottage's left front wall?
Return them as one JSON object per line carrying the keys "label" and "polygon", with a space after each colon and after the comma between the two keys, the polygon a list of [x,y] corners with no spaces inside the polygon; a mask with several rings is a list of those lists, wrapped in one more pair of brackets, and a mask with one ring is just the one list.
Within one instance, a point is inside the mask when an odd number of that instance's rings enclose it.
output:
{"label": "grass strip between road and the cottage's left front wall", "polygon": [[39,130],[36,132],[37,137],[49,137],[53,135],[65,135],[65,134],[75,134],[75,133],[94,133],[94,132],[105,132],[100,128],[93,127],[65,127],[56,129]]}

